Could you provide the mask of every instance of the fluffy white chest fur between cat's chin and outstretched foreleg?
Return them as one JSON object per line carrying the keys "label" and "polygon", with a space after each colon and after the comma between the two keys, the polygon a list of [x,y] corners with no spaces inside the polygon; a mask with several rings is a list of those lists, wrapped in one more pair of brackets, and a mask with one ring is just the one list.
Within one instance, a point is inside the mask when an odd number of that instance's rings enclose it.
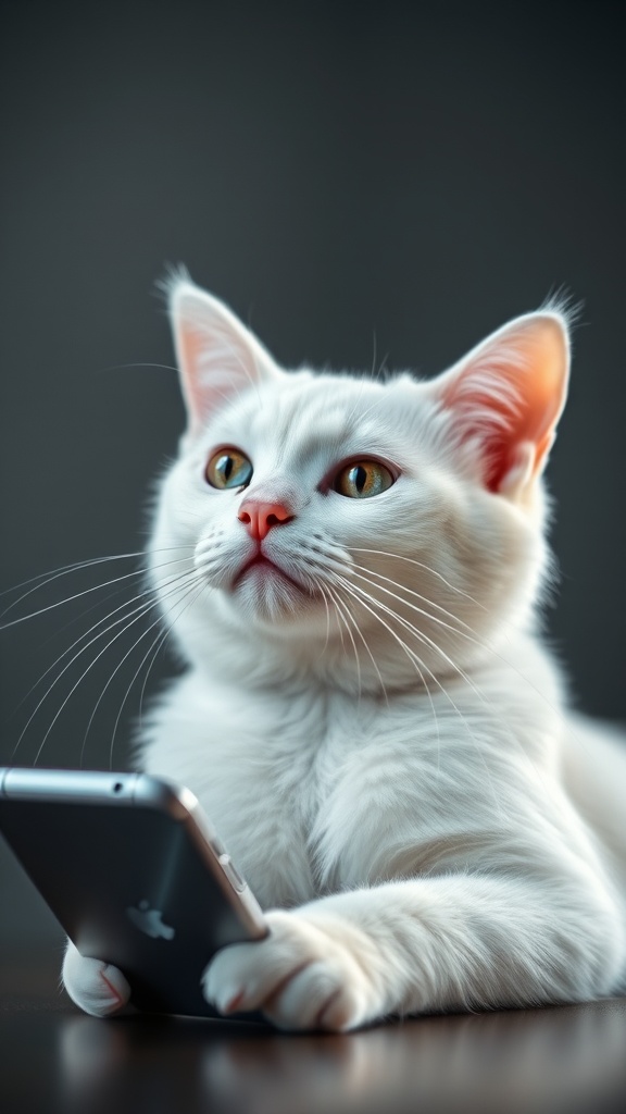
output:
{"label": "fluffy white chest fur between cat's chin and outstretched foreleg", "polygon": [[[444,715],[342,694],[207,692],[194,678],[157,716],[145,768],[198,797],[261,903],[294,905],[384,872],[402,828],[438,800]],[[439,822],[439,821],[438,821]]]}

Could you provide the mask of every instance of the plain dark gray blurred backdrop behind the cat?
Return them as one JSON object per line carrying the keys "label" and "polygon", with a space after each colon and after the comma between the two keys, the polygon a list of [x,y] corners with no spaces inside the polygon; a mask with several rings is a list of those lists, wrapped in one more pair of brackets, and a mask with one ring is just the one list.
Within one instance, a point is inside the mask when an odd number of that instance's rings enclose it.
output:
{"label": "plain dark gray blurred backdrop behind the cat", "polygon": [[[584,310],[549,472],[563,574],[549,629],[577,702],[624,717],[624,3],[0,10],[0,587],[143,545],[145,494],[183,424],[174,372],[153,367],[172,363],[154,296],[167,263],[186,263],[287,365],[387,358],[427,374],[565,286]],[[131,567],[59,578],[2,622]],[[102,643],[13,754],[46,684],[30,687],[120,598],[0,633],[0,762],[35,761]],[[41,762],[78,763],[129,645],[78,685]],[[99,705],[85,764],[108,764],[143,653]],[[19,890],[0,932],[38,930],[30,900]]]}

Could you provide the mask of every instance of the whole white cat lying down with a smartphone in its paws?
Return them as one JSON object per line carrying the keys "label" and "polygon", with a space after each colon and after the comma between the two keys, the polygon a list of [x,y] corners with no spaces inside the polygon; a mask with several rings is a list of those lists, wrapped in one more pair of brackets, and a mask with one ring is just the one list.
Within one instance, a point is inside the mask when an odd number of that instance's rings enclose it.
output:
{"label": "whole white cat lying down with a smartphone in its paws", "polygon": [[[149,559],[188,670],[140,764],[194,790],[271,927],[207,999],[345,1030],[624,989],[626,750],[567,710],[536,619],[564,311],[429,382],[284,372],[184,275],[170,312],[188,429]],[[63,977],[89,1013],[129,995],[71,945]]]}

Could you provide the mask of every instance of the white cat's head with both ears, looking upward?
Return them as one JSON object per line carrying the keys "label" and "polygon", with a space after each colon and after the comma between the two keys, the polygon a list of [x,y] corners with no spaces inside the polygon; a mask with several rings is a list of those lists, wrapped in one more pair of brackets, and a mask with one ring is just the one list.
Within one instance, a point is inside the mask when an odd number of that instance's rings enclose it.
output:
{"label": "white cat's head with both ears, looking upward", "polygon": [[185,275],[169,305],[188,426],[151,575],[190,661],[428,685],[530,622],[561,310],[517,317],[433,380],[383,382],[282,370]]}

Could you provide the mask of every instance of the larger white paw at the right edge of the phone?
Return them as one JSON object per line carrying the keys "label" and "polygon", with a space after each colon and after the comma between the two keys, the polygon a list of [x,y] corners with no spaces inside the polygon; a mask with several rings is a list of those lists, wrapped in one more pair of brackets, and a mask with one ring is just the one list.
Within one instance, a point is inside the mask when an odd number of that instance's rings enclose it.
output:
{"label": "larger white paw at the right edge of the phone", "polygon": [[374,980],[340,926],[282,911],[266,920],[270,936],[224,948],[204,973],[204,995],[219,1013],[261,1009],[281,1028],[333,1032],[376,1015]]}

